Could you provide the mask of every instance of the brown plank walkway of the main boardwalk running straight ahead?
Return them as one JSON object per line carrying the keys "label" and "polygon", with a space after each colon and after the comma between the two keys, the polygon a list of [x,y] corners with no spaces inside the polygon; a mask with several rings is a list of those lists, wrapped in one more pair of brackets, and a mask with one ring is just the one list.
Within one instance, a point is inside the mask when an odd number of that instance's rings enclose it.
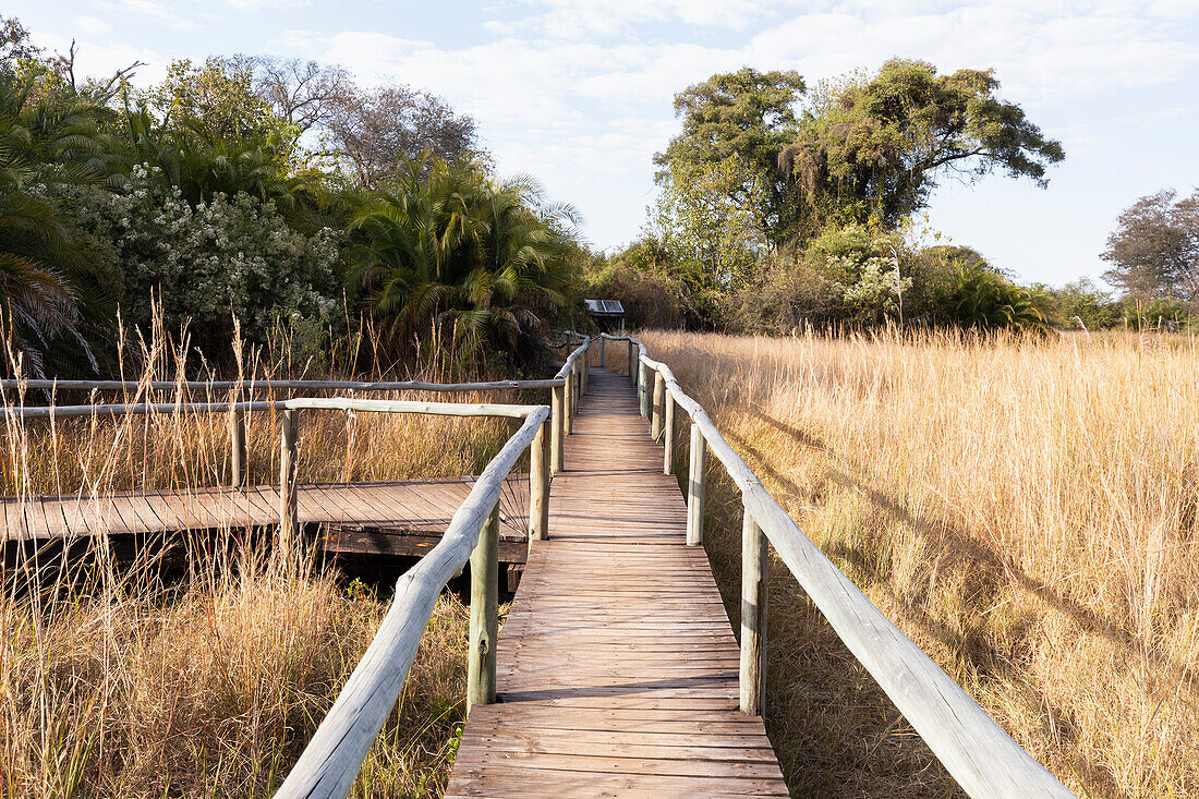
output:
{"label": "brown plank walkway of the main boardwalk running straight ahead", "polygon": [[787,795],[645,427],[628,379],[594,368],[447,797]]}

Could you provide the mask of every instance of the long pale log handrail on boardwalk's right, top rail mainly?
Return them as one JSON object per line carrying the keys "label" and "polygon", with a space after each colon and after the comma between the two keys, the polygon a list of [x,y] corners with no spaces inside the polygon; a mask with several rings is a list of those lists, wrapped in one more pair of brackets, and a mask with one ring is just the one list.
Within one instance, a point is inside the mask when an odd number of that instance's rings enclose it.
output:
{"label": "long pale log handrail on boardwalk's right, top rail mainly", "polygon": [[[653,370],[662,376],[675,403],[692,419],[693,450],[697,443],[694,432],[698,431],[741,489],[746,513],[752,518],[752,523],[745,524],[746,530],[757,528],[765,534],[791,575],[829,619],[849,650],[874,677],[969,795],[977,799],[1074,797],[1044,765],[1004,732],[953,678],[892,624],[800,530],[795,521],[763,487],[761,480],[749,464],[724,440],[703,405],[682,390],[669,366],[650,359],[645,346],[631,336],[603,335],[614,341],[628,341],[631,347],[635,344],[639,374],[644,374],[643,370]],[[631,373],[633,368],[634,365],[629,364]],[[644,378],[638,383],[639,388],[644,386]],[[749,551],[752,543],[747,531],[742,551]],[[752,560],[759,559],[752,558]],[[754,584],[751,590],[760,591],[761,595],[755,596],[743,591],[743,603],[754,603],[757,599],[758,603],[765,607],[764,570],[749,577]],[[742,582],[746,582],[745,573]],[[760,653],[765,649],[760,635],[765,632],[764,619],[754,618],[752,621],[755,633],[751,636],[748,645]],[[754,656],[760,657],[760,655]],[[760,680],[755,668],[758,663],[748,663],[747,669],[747,659],[742,657],[741,669],[742,709],[746,709],[747,698],[752,703]]]}

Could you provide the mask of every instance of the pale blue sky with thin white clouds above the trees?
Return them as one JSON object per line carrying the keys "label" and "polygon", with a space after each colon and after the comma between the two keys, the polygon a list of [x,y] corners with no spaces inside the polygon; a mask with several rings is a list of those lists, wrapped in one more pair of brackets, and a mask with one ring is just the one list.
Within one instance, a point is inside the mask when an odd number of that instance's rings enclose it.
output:
{"label": "pale blue sky with thin white clouds above the trees", "polygon": [[1024,282],[1098,278],[1107,235],[1137,198],[1199,187],[1199,0],[8,0],[36,43],[78,40],[84,74],[180,58],[270,54],[406,83],[475,118],[501,174],[531,173],[613,250],[653,202],[673,96],[742,66],[808,85],[888,58],[994,68],[1066,161],[1048,190],[1000,174],[942,182],[941,242]]}

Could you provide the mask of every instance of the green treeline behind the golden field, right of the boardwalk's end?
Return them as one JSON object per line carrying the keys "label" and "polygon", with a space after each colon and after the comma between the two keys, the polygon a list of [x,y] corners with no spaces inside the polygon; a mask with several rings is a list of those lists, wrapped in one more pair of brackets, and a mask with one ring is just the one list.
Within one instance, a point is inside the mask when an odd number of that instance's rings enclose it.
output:
{"label": "green treeline behind the golden field, right of the boardwalk's end", "polygon": [[1139,328],[1183,322],[1199,300],[1199,193],[1120,217],[1104,253],[1119,299],[1085,280],[1020,286],[939,242],[924,209],[940,180],[1046,187],[1065,157],[990,71],[896,59],[809,91],[795,72],[746,67],[687,88],[675,110],[645,232],[586,270],[588,293],[621,300],[634,326]]}

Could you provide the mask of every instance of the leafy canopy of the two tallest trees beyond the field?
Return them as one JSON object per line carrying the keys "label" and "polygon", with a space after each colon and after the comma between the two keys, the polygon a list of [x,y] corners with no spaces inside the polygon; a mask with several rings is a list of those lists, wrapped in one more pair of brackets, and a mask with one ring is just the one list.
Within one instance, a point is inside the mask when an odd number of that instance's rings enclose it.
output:
{"label": "leafy canopy of the two tallest trees beyond the field", "polygon": [[903,59],[811,94],[795,72],[745,67],[679,92],[675,112],[682,131],[656,157],[659,224],[716,272],[729,253],[802,248],[827,226],[896,229],[946,176],[1044,187],[1065,157],[993,71]]}

